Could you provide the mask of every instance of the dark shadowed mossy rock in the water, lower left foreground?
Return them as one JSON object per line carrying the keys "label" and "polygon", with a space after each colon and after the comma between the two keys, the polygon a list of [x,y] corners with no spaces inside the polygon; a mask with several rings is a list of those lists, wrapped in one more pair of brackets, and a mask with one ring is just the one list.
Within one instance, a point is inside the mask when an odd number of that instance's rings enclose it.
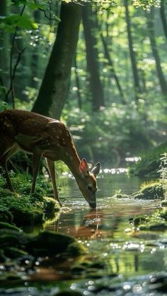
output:
{"label": "dark shadowed mossy rock in the water, lower left foreground", "polygon": [[[1,225],[3,227],[3,225]],[[79,256],[85,254],[86,248],[79,244],[74,237],[51,231],[40,232],[30,237],[18,230],[0,229],[0,261],[7,258],[17,259],[25,255],[33,256]],[[14,246],[14,247],[13,247]]]}

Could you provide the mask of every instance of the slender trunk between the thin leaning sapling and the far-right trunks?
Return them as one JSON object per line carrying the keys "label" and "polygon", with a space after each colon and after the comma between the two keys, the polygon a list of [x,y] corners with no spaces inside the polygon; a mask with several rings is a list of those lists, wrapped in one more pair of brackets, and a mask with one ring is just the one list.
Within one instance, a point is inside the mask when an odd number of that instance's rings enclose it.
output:
{"label": "slender trunk between the thin leaning sapling and the far-right trunks", "polygon": [[128,36],[128,42],[129,42],[129,54],[130,54],[130,59],[131,59],[131,63],[132,63],[132,73],[133,73],[133,78],[134,78],[134,90],[135,90],[136,99],[138,100],[138,93],[141,91],[141,89],[140,89],[140,84],[139,84],[137,61],[136,61],[134,47],[133,47],[128,0],[124,0],[124,5],[125,5],[125,18],[126,18],[126,23],[127,23],[127,36]]}

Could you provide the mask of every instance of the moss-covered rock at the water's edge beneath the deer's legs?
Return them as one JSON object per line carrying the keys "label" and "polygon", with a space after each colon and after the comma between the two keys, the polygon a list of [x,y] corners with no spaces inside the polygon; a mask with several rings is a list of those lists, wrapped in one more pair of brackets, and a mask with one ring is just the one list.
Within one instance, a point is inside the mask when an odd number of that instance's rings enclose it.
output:
{"label": "moss-covered rock at the water's edge beneath the deer's legs", "polygon": [[59,204],[52,198],[47,198],[38,192],[36,195],[19,195],[0,189],[0,222],[15,223],[18,226],[41,225],[54,218],[59,211]]}

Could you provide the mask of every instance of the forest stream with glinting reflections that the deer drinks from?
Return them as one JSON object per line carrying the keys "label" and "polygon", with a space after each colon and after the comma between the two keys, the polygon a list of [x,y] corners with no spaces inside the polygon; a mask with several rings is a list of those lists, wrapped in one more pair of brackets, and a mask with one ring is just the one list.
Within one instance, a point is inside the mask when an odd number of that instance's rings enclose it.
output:
{"label": "forest stream with glinting reflections that the deer drinks from", "polygon": [[167,232],[134,231],[131,224],[134,215],[151,214],[161,201],[111,197],[120,189],[132,194],[141,182],[123,170],[105,170],[98,178],[97,208],[90,210],[73,177],[59,179],[63,208],[46,228],[76,237],[88,253],[60,264],[46,259],[30,282],[4,294],[0,289],[0,295],[53,296],[64,289],[80,295],[167,295],[157,286],[167,278]]}

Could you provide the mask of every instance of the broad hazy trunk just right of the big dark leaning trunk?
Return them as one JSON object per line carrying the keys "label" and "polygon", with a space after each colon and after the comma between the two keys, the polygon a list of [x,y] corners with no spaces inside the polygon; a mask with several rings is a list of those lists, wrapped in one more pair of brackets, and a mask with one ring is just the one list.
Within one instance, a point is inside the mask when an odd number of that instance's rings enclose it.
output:
{"label": "broad hazy trunk just right of the big dark leaning trunk", "polygon": [[100,81],[99,66],[98,66],[98,50],[97,40],[94,37],[96,23],[93,21],[93,11],[90,4],[85,4],[82,20],[84,25],[84,35],[86,41],[86,59],[87,68],[90,78],[90,88],[92,95],[92,109],[98,111],[100,106],[104,106],[103,87]]}

